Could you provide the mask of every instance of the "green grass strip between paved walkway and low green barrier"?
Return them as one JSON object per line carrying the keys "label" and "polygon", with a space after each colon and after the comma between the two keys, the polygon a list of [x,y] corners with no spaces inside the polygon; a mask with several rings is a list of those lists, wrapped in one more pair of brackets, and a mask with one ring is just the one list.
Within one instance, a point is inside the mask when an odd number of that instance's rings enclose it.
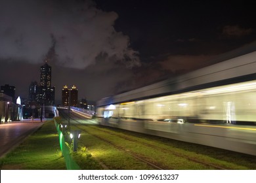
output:
{"label": "green grass strip between paved walkway and low green barrier", "polygon": [[45,122],[17,148],[1,158],[0,167],[1,170],[66,169],[53,120]]}

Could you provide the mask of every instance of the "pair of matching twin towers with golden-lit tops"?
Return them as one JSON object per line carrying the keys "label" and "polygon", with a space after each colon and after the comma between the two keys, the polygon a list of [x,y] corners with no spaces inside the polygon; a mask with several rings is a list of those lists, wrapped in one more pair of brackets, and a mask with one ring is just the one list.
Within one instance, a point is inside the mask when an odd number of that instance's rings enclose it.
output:
{"label": "pair of matching twin towers with golden-lit tops", "polygon": [[70,106],[77,107],[77,98],[78,90],[75,86],[72,86],[72,88],[69,89],[68,86],[65,85],[64,88],[62,88],[62,105],[68,106],[70,101]]}

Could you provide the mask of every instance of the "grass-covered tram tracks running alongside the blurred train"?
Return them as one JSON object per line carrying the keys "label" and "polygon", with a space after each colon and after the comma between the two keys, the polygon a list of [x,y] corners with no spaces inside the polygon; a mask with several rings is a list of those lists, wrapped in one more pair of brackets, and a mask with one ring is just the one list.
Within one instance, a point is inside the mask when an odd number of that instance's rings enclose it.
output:
{"label": "grass-covered tram tracks running alongside the blurred train", "polygon": [[[205,167],[205,169],[226,169],[226,167],[221,167],[221,166],[215,165],[213,163],[205,162],[199,158],[194,158],[194,157],[186,156],[184,154],[179,154],[178,152],[175,152],[175,150],[171,150],[169,148],[163,148],[163,147],[158,146],[157,144],[151,143],[149,141],[148,142],[140,141],[140,139],[138,137],[133,137],[131,135],[127,135],[124,133],[117,133],[116,131],[113,131],[113,129],[110,129],[110,127],[98,127],[95,125],[83,124],[79,120],[85,120],[84,117],[81,117],[81,116],[79,116],[77,114],[73,114],[73,113],[70,113],[70,114],[71,114],[70,120],[72,120],[71,121],[72,125],[75,125],[75,127],[80,129],[84,133],[88,133],[89,135],[92,135],[92,136],[100,139],[100,141],[106,142],[106,143],[110,144],[111,146],[113,146],[114,148],[121,150],[125,154],[128,154],[129,156],[132,156],[133,158],[146,163],[148,166],[152,167],[152,169],[159,169],[159,170],[175,169],[175,167],[172,167],[169,165],[164,165],[163,162],[156,161],[156,159],[148,158],[145,154],[140,154],[140,153],[136,152],[135,150],[133,150],[133,148],[131,148],[131,147],[127,148],[127,146],[125,146],[124,144],[130,143],[130,144],[134,144],[134,146],[139,145],[141,148],[150,148],[152,151],[157,152],[159,154],[168,154],[168,157],[174,157],[175,159],[181,158],[181,159],[185,159],[185,161],[197,163],[197,164],[201,165],[202,167]],[[61,110],[60,110],[60,116],[62,116],[62,118],[64,118],[66,121],[68,121],[68,114],[66,114],[65,112],[63,112]],[[79,119],[77,119],[77,118],[79,118]],[[87,120],[87,123],[88,122],[91,124],[95,124],[90,119]],[[90,129],[93,129],[93,130],[90,130]],[[102,134],[102,135],[96,135],[92,131],[100,131],[100,134]],[[117,144],[114,141],[110,140],[112,138],[106,139],[106,138],[104,138],[104,137],[106,137],[106,135],[114,137],[114,138],[122,139],[123,143]],[[167,159],[168,158],[166,158],[165,160],[167,160]]]}

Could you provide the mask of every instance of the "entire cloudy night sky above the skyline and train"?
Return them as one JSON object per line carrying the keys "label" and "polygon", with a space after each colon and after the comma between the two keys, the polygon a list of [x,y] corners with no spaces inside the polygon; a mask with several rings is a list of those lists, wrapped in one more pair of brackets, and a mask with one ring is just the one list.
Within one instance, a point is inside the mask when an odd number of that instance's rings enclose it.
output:
{"label": "entire cloudy night sky above the skyline and train", "polygon": [[0,85],[96,101],[256,50],[253,1],[0,0]]}

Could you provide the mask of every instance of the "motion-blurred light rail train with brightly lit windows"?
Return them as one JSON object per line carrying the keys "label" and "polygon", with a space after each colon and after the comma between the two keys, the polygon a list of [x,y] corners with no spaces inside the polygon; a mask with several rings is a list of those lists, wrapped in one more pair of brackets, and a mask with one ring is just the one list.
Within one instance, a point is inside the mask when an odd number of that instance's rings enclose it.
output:
{"label": "motion-blurred light rail train with brightly lit windows", "polygon": [[106,97],[102,125],[256,156],[256,52]]}

